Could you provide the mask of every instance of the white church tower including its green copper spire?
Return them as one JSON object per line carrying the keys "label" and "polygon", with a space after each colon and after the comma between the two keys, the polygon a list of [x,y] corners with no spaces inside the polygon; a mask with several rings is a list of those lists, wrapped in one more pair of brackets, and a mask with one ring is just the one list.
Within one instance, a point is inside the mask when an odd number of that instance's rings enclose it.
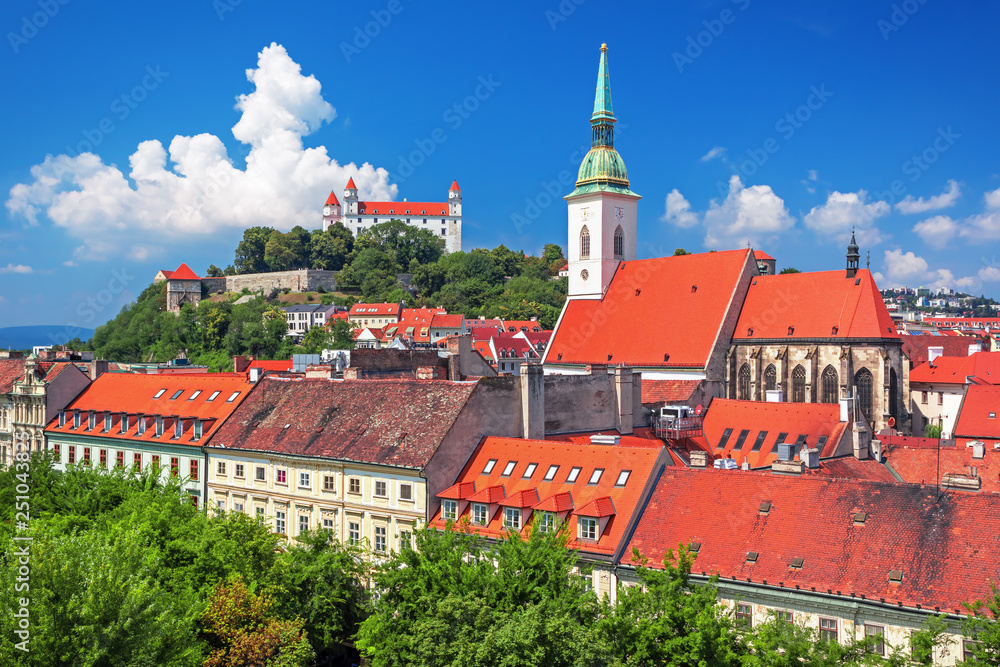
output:
{"label": "white church tower including its green copper spire", "polygon": [[601,44],[591,148],[564,199],[569,205],[569,298],[600,299],[619,262],[636,258],[636,209],[625,163],[615,150],[608,45]]}

